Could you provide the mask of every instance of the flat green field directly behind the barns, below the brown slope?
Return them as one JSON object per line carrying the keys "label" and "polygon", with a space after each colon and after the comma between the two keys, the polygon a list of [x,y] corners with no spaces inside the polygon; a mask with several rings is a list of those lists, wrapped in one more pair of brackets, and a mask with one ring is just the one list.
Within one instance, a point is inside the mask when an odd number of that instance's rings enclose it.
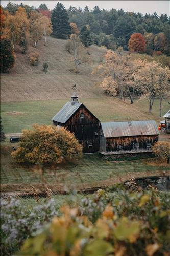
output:
{"label": "flat green field directly behind the barns, below the brown slope", "polygon": [[[20,133],[22,129],[29,129],[33,123],[52,124],[52,117],[62,108],[69,99],[39,100],[22,102],[2,102],[1,117],[5,133]],[[127,121],[156,120],[159,122],[159,100],[155,100],[152,113],[148,112],[147,99],[136,100],[133,105],[126,99],[106,97],[79,99],[87,108],[101,120]],[[162,116],[169,110],[168,102],[162,104]]]}

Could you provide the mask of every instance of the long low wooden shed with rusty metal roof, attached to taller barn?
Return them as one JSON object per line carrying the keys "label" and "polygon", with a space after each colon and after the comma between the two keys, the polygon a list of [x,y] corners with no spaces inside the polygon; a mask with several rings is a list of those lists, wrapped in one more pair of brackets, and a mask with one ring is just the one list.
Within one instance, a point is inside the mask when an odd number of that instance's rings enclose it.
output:
{"label": "long low wooden shed with rusty metal roof, attached to taller barn", "polygon": [[153,120],[101,123],[99,152],[103,155],[152,152],[158,136]]}

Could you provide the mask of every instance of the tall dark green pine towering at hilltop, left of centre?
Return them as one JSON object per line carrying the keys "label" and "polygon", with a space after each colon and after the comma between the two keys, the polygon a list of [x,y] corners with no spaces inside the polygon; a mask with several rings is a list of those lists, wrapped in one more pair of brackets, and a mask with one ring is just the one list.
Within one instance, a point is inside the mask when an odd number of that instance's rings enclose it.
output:
{"label": "tall dark green pine towering at hilltop, left of centre", "polygon": [[68,22],[68,13],[65,7],[61,3],[57,3],[56,7],[52,11],[52,36],[60,39],[67,39],[71,34],[71,27]]}

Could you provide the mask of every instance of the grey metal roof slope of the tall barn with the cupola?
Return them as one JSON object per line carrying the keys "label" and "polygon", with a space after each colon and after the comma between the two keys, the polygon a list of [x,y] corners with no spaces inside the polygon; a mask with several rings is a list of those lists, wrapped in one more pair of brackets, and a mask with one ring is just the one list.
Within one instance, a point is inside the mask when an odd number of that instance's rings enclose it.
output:
{"label": "grey metal roof slope of the tall barn with the cupola", "polygon": [[65,123],[82,105],[82,103],[75,102],[71,105],[71,102],[67,102],[62,109],[52,118],[53,121],[59,123]]}

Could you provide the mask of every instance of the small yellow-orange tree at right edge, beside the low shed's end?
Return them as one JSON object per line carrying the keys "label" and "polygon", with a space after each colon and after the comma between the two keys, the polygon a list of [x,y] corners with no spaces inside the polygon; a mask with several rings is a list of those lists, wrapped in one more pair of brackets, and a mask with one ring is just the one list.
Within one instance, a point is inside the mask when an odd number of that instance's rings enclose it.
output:
{"label": "small yellow-orange tree at right edge, beside the low shed's end", "polygon": [[169,160],[170,160],[170,142],[168,142],[168,141],[158,141],[153,146],[153,152],[158,157],[166,158],[167,163],[169,163]]}

